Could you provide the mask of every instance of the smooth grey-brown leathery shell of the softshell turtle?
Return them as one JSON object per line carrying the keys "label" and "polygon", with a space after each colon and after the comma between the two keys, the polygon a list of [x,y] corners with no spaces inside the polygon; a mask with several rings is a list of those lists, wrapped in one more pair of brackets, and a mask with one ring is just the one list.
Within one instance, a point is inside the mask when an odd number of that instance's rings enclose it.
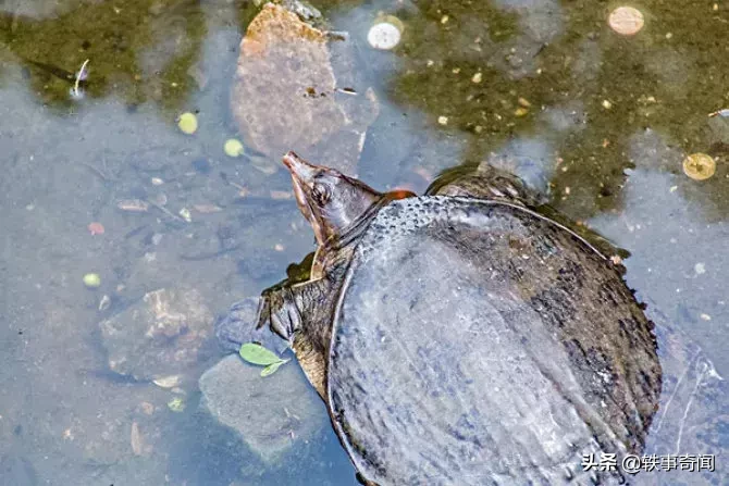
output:
{"label": "smooth grey-brown leathery shell of the softshell turtle", "polygon": [[332,421],[380,485],[609,484],[583,456],[642,450],[653,325],[579,236],[505,202],[394,201],[333,317]]}

